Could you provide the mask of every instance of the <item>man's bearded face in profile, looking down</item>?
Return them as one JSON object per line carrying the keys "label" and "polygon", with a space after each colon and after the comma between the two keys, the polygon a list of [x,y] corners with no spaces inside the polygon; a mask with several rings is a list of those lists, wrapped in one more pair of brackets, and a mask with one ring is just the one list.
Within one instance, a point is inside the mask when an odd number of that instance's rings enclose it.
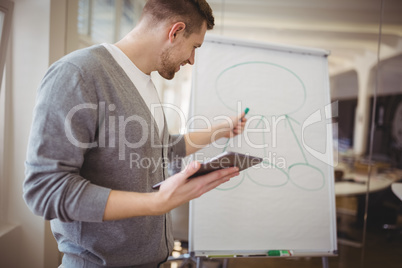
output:
{"label": "man's bearded face in profile, looking down", "polygon": [[180,70],[180,66],[184,66],[187,63],[193,65],[195,49],[204,42],[206,31],[207,25],[204,23],[199,33],[192,33],[187,38],[182,35],[175,46],[162,51],[159,74],[163,78],[171,80],[176,72]]}

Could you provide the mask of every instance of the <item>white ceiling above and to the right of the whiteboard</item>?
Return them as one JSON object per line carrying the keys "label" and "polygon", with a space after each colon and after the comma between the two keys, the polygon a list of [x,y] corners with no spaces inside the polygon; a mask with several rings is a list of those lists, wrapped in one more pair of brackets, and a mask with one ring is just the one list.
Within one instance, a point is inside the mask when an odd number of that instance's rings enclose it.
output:
{"label": "white ceiling above and to the right of the whiteboard", "polygon": [[[383,0],[381,55],[402,53],[402,0]],[[208,0],[215,34],[329,50],[332,75],[376,59],[381,0]]]}

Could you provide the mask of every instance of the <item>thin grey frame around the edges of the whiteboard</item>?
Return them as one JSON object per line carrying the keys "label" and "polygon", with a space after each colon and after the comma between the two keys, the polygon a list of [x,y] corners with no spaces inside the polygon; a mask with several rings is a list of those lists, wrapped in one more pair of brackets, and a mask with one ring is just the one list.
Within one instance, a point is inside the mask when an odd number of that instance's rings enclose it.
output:
{"label": "thin grey frame around the edges of the whiteboard", "polygon": [[[302,55],[312,55],[312,56],[318,56],[318,57],[328,57],[331,53],[328,50],[324,49],[318,49],[318,48],[308,48],[308,47],[299,47],[299,46],[289,46],[289,45],[283,45],[283,44],[276,44],[276,43],[265,43],[265,42],[257,42],[257,41],[249,41],[249,40],[243,40],[243,39],[236,39],[236,38],[227,38],[227,37],[222,37],[218,35],[213,35],[213,34],[207,34],[205,36],[204,43],[217,43],[217,44],[225,44],[225,45],[233,45],[233,46],[240,46],[240,47],[248,47],[248,48],[259,48],[259,49],[267,49],[267,50],[274,50],[274,51],[280,51],[280,52],[287,52],[287,53],[295,53],[295,54],[302,54]],[[197,62],[197,55],[196,55],[196,62]],[[194,70],[193,69],[193,74]],[[328,71],[328,65],[326,67],[325,73],[329,74]],[[190,98],[190,111],[189,115],[194,114],[194,87],[197,84],[197,76],[193,75],[192,76],[192,94]],[[326,99],[327,103],[331,103],[330,99],[330,84],[329,84],[329,79],[326,79],[326,85],[327,89],[329,90],[328,98]],[[331,111],[329,111],[330,116],[332,117]],[[329,133],[332,133],[332,124],[329,126]],[[332,134],[329,134],[332,135]],[[329,142],[331,143],[331,146],[329,146],[329,155],[333,155],[333,144],[332,144],[332,139],[329,139]],[[333,172],[330,175],[331,177],[329,178],[332,183],[330,183],[328,187],[328,191],[330,191],[330,207],[332,209],[336,209],[335,206],[335,186],[334,186],[334,174]],[[330,208],[330,209],[331,209]],[[338,255],[338,247],[337,247],[337,225],[336,225],[336,211],[333,211],[334,217],[332,217],[332,226],[334,227],[332,232],[329,234],[330,235],[330,240],[332,244],[332,251],[328,250],[292,250],[292,256],[291,257],[333,257]],[[238,250],[238,251],[233,251],[233,250],[200,250],[200,251],[195,251],[193,250],[194,248],[194,231],[193,231],[193,201],[190,201],[189,204],[189,234],[188,234],[188,240],[189,240],[189,252],[192,256],[195,257],[208,257],[208,258],[236,258],[236,257],[255,257],[257,256],[265,256],[269,257],[267,255],[267,250],[262,250],[262,251],[248,251],[248,250]],[[278,249],[272,249],[272,250],[278,250]],[[280,250],[280,249],[279,249]],[[288,256],[284,256],[289,258]]]}

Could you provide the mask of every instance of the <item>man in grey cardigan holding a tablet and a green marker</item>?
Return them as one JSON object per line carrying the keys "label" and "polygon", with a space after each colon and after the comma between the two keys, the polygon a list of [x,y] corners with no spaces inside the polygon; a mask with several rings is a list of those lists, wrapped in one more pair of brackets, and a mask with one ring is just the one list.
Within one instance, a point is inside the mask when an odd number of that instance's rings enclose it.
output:
{"label": "man in grey cardigan holding a tablet and a green marker", "polygon": [[121,41],[73,52],[45,75],[24,199],[52,220],[64,267],[157,267],[173,247],[168,212],[239,174],[228,168],[187,180],[199,168],[192,162],[168,178],[166,162],[212,137],[238,135],[242,115],[183,137],[170,135],[163,111],[152,107],[159,99],[150,73],[172,79],[181,65],[194,64],[213,25],[204,0],[149,0]]}

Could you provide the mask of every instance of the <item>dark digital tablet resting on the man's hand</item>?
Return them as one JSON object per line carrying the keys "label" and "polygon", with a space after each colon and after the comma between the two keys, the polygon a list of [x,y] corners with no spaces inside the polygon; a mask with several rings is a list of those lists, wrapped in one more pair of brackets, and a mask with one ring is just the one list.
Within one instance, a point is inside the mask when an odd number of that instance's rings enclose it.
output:
{"label": "dark digital tablet resting on the man's hand", "polygon": [[[200,169],[192,176],[190,176],[189,179],[208,174],[212,171],[229,167],[238,167],[239,171],[242,171],[246,168],[257,165],[262,161],[263,159],[260,157],[235,152],[224,152],[211,158],[210,160],[204,163],[201,163]],[[158,189],[162,183],[163,181],[155,184],[154,186],[152,186],[152,188]]]}

